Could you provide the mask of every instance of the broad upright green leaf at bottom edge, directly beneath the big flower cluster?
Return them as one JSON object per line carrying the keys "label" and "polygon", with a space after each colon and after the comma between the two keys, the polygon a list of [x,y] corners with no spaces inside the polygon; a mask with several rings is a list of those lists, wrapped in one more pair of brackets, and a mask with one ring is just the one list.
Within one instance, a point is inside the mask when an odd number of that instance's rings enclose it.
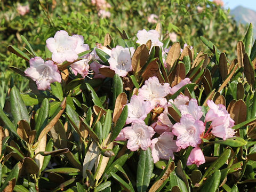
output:
{"label": "broad upright green leaf at bottom edge, directly beneath the big flower cluster", "polygon": [[137,190],[147,191],[151,174],[153,173],[154,162],[151,155],[151,149],[147,148],[146,151],[140,151],[138,169],[137,169]]}

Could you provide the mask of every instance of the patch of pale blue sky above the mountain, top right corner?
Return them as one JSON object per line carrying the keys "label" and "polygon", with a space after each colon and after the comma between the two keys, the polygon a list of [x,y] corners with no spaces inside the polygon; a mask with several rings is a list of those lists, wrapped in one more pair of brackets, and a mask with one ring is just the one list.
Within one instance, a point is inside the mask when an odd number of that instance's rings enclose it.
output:
{"label": "patch of pale blue sky above the mountain, top right corner", "polygon": [[256,11],[256,0],[222,0],[225,4],[225,8],[234,9],[238,5],[242,5],[246,8]]}

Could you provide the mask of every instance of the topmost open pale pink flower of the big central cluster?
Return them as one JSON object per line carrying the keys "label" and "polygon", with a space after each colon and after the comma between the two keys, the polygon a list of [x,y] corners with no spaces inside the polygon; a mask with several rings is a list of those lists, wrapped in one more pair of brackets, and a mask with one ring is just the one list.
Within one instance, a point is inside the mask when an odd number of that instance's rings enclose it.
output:
{"label": "topmost open pale pink flower of the big central cluster", "polygon": [[160,106],[166,105],[167,100],[164,97],[170,93],[170,89],[169,83],[161,84],[157,77],[149,77],[145,81],[145,85],[139,89],[138,95],[144,100],[150,101],[153,109],[157,104]]}

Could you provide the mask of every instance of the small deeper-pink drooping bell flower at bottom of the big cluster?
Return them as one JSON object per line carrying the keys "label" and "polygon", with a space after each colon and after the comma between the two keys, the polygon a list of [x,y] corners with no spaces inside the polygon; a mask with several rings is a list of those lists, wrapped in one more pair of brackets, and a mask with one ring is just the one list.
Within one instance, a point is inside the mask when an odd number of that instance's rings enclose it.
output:
{"label": "small deeper-pink drooping bell flower at bottom of the big cluster", "polygon": [[199,165],[203,163],[205,163],[203,151],[198,146],[196,146],[191,150],[188,156],[187,165],[196,164],[196,166],[199,167]]}

